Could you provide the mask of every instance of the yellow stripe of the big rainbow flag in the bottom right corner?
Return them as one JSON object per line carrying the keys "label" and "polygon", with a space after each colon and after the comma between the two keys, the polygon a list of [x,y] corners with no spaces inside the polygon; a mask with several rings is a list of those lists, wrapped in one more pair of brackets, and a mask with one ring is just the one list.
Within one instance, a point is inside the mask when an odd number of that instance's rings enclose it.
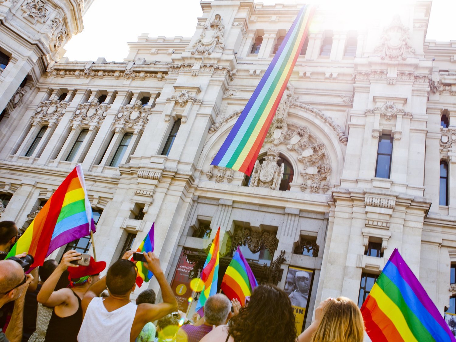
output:
{"label": "yellow stripe of the big rainbow flag in the bottom right corner", "polygon": [[407,325],[399,307],[391,301],[388,295],[383,292],[381,287],[374,284],[372,290],[370,291],[370,295],[375,298],[375,301],[377,301],[378,308],[393,322],[404,341],[416,341],[416,338],[410,331],[410,328]]}

